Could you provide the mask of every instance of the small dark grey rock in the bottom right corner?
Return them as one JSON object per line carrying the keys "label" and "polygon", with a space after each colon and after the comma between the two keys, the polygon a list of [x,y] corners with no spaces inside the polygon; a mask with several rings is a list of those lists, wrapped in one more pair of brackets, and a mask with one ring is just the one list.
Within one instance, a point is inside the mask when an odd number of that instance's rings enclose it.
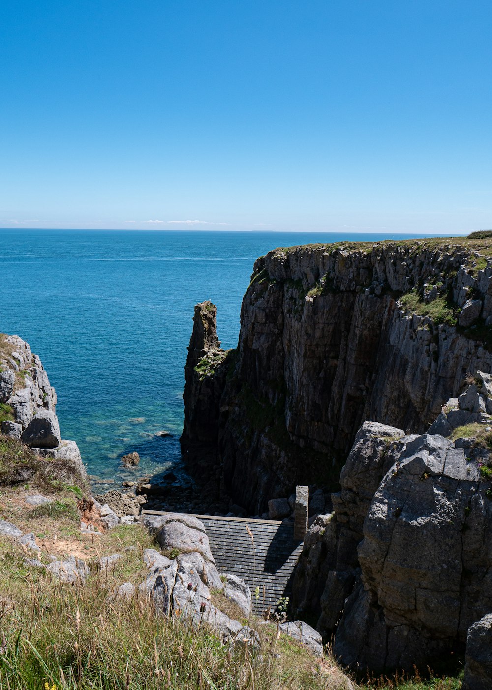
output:
{"label": "small dark grey rock in the bottom right corner", "polygon": [[469,627],[462,690],[490,690],[491,687],[492,613],[488,613]]}

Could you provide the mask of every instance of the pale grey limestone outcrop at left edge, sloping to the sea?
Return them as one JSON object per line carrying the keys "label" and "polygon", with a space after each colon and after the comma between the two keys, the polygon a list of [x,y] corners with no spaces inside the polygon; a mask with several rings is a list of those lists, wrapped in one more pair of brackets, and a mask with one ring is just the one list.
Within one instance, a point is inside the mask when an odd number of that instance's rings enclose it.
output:
{"label": "pale grey limestone outcrop at left edge, sloping to the sea", "polygon": [[61,438],[57,393],[41,359],[18,335],[0,333],[0,431],[20,439],[41,457],[67,460],[87,476],[74,441]]}

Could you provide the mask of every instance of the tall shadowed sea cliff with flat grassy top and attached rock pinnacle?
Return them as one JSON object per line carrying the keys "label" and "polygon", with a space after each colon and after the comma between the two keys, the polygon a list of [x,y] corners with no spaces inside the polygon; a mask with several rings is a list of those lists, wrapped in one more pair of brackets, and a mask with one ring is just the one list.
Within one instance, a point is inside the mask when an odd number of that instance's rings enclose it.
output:
{"label": "tall shadowed sea cliff with flat grassy top and attached rock pinnacle", "polygon": [[424,431],[467,372],[491,371],[488,252],[439,239],[258,259],[237,351],[218,350],[210,312],[205,366],[194,326],[182,438],[192,471],[260,513],[295,484],[336,482],[365,420]]}

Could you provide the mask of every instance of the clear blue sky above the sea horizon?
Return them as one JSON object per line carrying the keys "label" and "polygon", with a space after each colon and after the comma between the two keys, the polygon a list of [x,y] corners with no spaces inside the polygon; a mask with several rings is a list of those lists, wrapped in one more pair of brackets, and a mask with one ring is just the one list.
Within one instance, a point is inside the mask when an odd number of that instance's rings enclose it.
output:
{"label": "clear blue sky above the sea horizon", "polygon": [[3,0],[0,226],[492,227],[491,20],[482,0]]}

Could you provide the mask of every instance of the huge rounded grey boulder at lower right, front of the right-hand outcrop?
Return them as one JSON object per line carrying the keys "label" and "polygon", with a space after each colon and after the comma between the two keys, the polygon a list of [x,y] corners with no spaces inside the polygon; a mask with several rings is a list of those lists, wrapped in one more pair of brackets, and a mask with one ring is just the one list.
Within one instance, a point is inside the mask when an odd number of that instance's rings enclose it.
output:
{"label": "huge rounded grey boulder at lower right, front of the right-hand outcrop", "polygon": [[492,609],[489,482],[439,435],[406,444],[376,491],[358,546],[362,584],[335,638],[343,664],[425,668]]}

